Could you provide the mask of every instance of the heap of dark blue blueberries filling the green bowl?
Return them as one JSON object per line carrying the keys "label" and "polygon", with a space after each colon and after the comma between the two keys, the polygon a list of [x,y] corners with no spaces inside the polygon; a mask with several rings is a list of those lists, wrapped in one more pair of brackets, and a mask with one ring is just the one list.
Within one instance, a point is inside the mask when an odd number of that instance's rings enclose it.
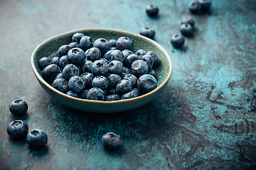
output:
{"label": "heap of dark blue blueberries filling the green bowl", "polygon": [[117,40],[75,33],[59,47],[55,57],[42,57],[38,65],[53,88],[75,98],[117,101],[156,89],[159,57],[152,51],[132,52],[127,37]]}

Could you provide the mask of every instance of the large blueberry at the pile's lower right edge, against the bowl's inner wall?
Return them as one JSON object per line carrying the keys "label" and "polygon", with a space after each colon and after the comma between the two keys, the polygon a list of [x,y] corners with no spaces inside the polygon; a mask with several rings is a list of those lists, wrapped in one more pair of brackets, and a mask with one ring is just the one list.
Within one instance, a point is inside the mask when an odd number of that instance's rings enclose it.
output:
{"label": "large blueberry at the pile's lower right edge, against the bowl's inner wall", "polygon": [[156,89],[156,83],[156,78],[154,78],[150,74],[144,74],[141,77],[139,77],[137,81],[137,86],[142,94],[147,94],[150,91]]}

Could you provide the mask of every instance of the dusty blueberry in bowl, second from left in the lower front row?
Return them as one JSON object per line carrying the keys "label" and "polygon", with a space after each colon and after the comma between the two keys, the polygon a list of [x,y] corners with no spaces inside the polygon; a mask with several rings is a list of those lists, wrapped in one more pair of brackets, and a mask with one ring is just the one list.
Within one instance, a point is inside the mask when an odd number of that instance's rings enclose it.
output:
{"label": "dusty blueberry in bowl, second from left in the lower front row", "polygon": [[71,91],[80,93],[85,89],[85,81],[80,76],[71,77],[68,81],[68,87]]}

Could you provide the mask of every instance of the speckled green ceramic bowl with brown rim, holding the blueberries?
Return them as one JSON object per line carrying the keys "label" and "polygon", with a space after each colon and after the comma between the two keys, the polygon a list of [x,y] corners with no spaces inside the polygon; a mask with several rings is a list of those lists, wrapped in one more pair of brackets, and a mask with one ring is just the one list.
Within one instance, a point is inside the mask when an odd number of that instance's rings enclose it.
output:
{"label": "speckled green ceramic bowl with brown rim, holding the blueberries", "polygon": [[[50,86],[50,84],[48,84],[47,81],[43,79],[41,69],[38,66],[38,61],[41,59],[41,57],[54,57],[61,45],[68,45],[68,43],[72,42],[71,38],[74,33],[83,33],[85,35],[89,35],[94,40],[97,38],[105,38],[106,40],[111,40],[124,36],[130,38],[133,41],[133,52],[136,52],[140,49],[153,51],[161,61],[160,66],[155,69],[157,75],[156,89],[137,98],[129,98],[119,101],[92,101],[81,98],[74,98],[54,89],[52,86]],[[45,40],[33,51],[31,57],[31,66],[39,84],[42,86],[43,90],[46,91],[46,93],[49,94],[52,98],[70,108],[90,113],[119,113],[130,111],[135,108],[139,108],[146,103],[149,103],[149,101],[154,100],[154,98],[159,96],[159,94],[161,94],[161,92],[164,90],[173,70],[170,55],[168,52],[166,52],[166,50],[164,50],[164,47],[161,47],[161,45],[159,45],[159,43],[156,41],[136,33],[105,28],[74,30],[68,33],[56,35],[53,38]]]}

